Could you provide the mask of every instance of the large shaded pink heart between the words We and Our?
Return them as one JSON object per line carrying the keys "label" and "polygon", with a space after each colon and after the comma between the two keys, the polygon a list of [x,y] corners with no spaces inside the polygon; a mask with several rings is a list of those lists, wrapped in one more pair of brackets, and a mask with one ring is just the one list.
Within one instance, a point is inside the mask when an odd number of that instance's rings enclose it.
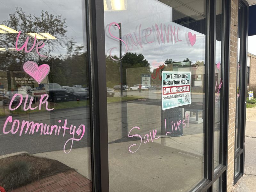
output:
{"label": "large shaded pink heart between the words We and Our", "polygon": [[23,64],[23,69],[28,75],[33,77],[39,84],[44,80],[44,78],[50,72],[50,66],[47,64],[40,65],[38,67],[37,63],[34,61],[27,61]]}

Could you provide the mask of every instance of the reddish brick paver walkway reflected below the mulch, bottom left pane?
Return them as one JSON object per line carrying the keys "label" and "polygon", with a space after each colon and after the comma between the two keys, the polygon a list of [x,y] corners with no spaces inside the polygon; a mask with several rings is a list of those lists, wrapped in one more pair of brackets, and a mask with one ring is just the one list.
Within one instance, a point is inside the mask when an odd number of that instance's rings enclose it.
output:
{"label": "reddish brick paver walkway reflected below the mulch, bottom left pane", "polygon": [[13,192],[91,192],[92,181],[76,171],[58,173],[31,184],[12,190]]}

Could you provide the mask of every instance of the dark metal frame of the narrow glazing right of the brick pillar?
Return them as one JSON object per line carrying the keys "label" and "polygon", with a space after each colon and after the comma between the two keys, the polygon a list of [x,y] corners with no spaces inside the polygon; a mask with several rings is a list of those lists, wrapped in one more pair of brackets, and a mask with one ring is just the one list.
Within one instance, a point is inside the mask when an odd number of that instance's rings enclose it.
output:
{"label": "dark metal frame of the narrow glazing right of the brick pillar", "polygon": [[[238,148],[236,148],[236,139],[235,139],[235,155],[234,162],[236,158],[239,159],[239,173],[236,175],[236,165],[234,163],[234,184],[242,177],[244,174],[244,139],[245,139],[245,121],[246,121],[246,85],[247,85],[247,44],[248,44],[248,28],[249,28],[249,4],[245,0],[239,1],[239,6],[242,7],[242,19],[241,19],[241,37],[240,37],[240,52],[239,61],[240,61],[240,103],[238,106],[238,134],[237,134],[237,143]],[[238,16],[239,17],[239,16]],[[238,23],[239,25],[239,23]],[[239,27],[239,26],[238,26]],[[237,33],[237,42],[238,42],[238,33]],[[241,65],[242,63],[242,65]],[[236,134],[235,134],[236,135]]]}

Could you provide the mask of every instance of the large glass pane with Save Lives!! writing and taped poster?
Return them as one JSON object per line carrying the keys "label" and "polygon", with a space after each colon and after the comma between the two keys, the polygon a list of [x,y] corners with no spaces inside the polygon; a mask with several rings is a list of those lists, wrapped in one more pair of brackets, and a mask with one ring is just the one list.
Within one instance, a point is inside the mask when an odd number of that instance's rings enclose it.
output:
{"label": "large glass pane with Save Lives!! writing and taped poster", "polygon": [[104,10],[110,191],[189,191],[204,179],[205,1]]}

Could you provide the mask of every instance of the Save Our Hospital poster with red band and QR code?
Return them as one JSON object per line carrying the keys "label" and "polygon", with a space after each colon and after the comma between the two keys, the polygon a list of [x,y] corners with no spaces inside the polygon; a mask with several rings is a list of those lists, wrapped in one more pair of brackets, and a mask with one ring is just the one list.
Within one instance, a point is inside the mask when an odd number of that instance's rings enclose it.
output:
{"label": "Save Our Hospital poster with red band and QR code", "polygon": [[162,71],[162,109],[191,104],[190,82],[190,71]]}

